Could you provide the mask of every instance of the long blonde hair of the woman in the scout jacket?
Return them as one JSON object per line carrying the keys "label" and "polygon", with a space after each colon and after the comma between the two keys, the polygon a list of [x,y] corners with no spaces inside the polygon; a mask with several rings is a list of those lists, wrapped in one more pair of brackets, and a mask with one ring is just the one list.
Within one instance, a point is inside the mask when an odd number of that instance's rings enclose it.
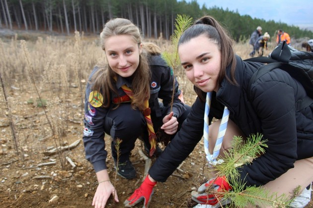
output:
{"label": "long blonde hair of the woman in the scout jacket", "polygon": [[[102,50],[105,51],[105,41],[112,36],[129,35],[133,38],[135,43],[142,44],[142,34],[139,28],[130,20],[123,18],[115,18],[109,20],[100,34],[100,43]],[[116,90],[116,81],[114,77],[117,74],[112,70],[108,63],[98,64],[99,69],[93,74],[91,78],[91,88],[93,91],[101,92],[103,95],[103,107],[109,107],[111,103],[111,93],[118,95]],[[143,52],[139,55],[139,65],[134,72],[132,81],[132,91],[134,97],[132,99],[132,107],[143,110],[145,108],[145,100],[150,98],[150,79],[151,71],[148,63],[148,52],[143,47]],[[118,105],[117,105],[118,106]]]}

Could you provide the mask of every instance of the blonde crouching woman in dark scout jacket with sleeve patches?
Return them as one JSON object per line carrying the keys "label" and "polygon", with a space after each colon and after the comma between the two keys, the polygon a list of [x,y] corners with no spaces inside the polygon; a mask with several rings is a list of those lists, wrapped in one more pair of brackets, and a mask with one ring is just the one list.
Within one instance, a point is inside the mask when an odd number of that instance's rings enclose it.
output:
{"label": "blonde crouching woman in dark scout jacket with sleeve patches", "polygon": [[157,153],[157,132],[172,138],[189,113],[172,69],[161,58],[160,49],[143,43],[139,28],[130,20],[108,21],[100,34],[106,62],[98,64],[85,93],[83,143],[86,159],[96,172],[98,187],[92,205],[105,206],[117,192],[106,166],[104,135],[112,138],[111,151],[117,174],[136,177],[130,153],[137,138],[150,156]]}

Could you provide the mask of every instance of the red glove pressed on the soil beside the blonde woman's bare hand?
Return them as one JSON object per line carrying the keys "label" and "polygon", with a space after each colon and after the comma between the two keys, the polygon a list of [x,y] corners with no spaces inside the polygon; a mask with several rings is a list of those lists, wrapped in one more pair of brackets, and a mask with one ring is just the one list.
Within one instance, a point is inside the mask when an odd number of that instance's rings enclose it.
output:
{"label": "red glove pressed on the soil beside the blonde woman's bare hand", "polygon": [[143,208],[148,208],[153,195],[153,187],[156,184],[157,182],[152,182],[147,176],[141,186],[134,191],[132,196],[125,200],[124,206],[130,208],[145,200]]}

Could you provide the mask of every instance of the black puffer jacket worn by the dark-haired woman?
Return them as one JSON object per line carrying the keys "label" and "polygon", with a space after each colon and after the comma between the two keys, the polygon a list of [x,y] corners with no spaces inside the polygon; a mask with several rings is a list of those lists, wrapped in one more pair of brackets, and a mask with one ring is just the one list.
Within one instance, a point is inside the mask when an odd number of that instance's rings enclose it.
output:
{"label": "black puffer jacket worn by the dark-haired woman", "polygon": [[[313,104],[295,110],[296,101],[306,97],[305,89],[280,69],[272,70],[251,86],[249,102],[247,86],[261,64],[236,58],[238,86],[226,79],[222,82],[217,94],[213,93],[209,116],[221,118],[226,105],[230,119],[244,135],[259,132],[268,140],[266,153],[239,171],[247,186],[260,186],[292,168],[295,160],[313,156]],[[155,180],[164,182],[201,140],[204,108],[204,102],[197,98],[181,130],[150,169]]]}

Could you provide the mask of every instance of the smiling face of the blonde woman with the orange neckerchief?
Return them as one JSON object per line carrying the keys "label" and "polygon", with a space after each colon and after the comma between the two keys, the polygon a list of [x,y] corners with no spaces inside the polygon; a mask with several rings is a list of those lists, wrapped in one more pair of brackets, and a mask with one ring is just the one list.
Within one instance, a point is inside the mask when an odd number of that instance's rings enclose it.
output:
{"label": "smiling face of the blonde woman with the orange neckerchief", "polygon": [[142,45],[134,41],[130,35],[109,37],[105,43],[105,55],[112,70],[121,77],[130,77],[139,65],[139,54]]}

